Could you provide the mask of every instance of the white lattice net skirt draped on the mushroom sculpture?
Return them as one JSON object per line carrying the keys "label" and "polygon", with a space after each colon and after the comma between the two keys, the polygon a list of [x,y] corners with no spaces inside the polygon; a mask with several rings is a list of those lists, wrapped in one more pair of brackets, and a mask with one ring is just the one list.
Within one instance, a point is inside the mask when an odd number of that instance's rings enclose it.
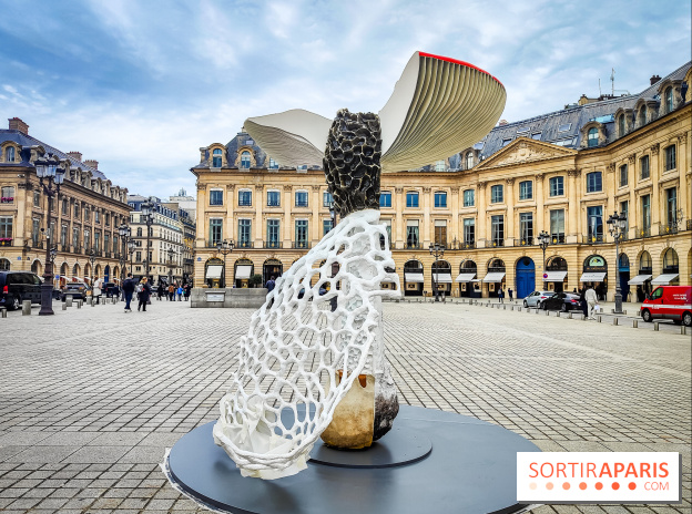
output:
{"label": "white lattice net skirt draped on the mushroom sculpture", "polygon": [[[397,274],[386,270],[395,265],[378,222],[375,209],[346,216],[276,280],[253,315],[214,426],[214,441],[244,476],[271,480],[305,469],[359,374],[376,377],[380,395],[396,397],[379,306],[381,297],[398,298],[400,288]],[[381,289],[384,281],[396,290]],[[285,408],[294,411],[291,426],[281,419]]]}

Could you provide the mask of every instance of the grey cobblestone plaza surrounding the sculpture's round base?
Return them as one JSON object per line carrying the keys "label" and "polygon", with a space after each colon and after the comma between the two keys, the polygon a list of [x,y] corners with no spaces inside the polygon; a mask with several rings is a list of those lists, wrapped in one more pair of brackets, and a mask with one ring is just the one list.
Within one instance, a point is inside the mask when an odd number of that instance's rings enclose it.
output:
{"label": "grey cobblestone plaza surrounding the sculpture's round base", "polygon": [[[399,401],[502,425],[543,451],[683,455],[681,505],[540,514],[689,513],[690,337],[532,312],[385,304]],[[0,511],[205,512],[157,463],[216,419],[252,309],[153,300],[145,313],[122,304],[37,313],[0,320]]]}

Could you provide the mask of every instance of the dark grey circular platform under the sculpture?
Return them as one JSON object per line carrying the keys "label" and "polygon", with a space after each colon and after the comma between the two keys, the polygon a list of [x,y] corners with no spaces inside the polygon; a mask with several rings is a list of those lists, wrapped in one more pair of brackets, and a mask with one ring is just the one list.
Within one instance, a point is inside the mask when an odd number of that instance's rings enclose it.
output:
{"label": "dark grey circular platform under the sculpture", "polygon": [[[475,418],[401,405],[395,429],[370,450],[338,452],[318,441],[311,456],[324,463],[311,459],[296,475],[265,481],[241,476],[214,444],[213,426],[177,441],[169,454],[169,476],[191,497],[238,514],[511,513],[526,506],[517,504],[517,452],[540,451]],[[408,455],[424,454],[397,464],[396,440],[410,441],[411,434],[419,449]],[[426,441],[431,451],[424,451]],[[380,456],[367,456],[373,450]]]}

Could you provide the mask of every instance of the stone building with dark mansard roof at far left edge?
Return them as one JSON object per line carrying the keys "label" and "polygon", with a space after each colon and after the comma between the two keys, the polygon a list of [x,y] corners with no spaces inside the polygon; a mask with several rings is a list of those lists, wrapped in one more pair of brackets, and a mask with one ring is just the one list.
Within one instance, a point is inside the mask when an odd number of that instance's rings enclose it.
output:
{"label": "stone building with dark mansard roof at far left edge", "polygon": [[[51,246],[58,249],[55,287],[72,279],[120,278],[123,248],[118,227],[128,222],[128,189],[111,183],[96,161],[82,161],[79,152],[64,153],[37,140],[17,117],[9,122],[8,130],[0,130],[0,269],[41,275],[47,234],[52,234]],[[34,167],[48,155],[68,169],[50,207]]]}

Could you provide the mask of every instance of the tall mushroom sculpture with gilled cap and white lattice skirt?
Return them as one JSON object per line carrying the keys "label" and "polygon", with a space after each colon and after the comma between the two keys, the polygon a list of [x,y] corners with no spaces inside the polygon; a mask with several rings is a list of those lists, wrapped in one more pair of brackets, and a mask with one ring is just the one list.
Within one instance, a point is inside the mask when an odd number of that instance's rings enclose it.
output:
{"label": "tall mushroom sculpture with gilled cap and white lattice skirt", "polygon": [[[323,162],[340,222],[276,280],[242,338],[214,441],[244,476],[306,467],[322,436],[367,448],[391,428],[396,386],[385,357],[381,298],[398,298],[380,173],[445,158],[482,138],[505,106],[502,84],[461,61],[416,52],[378,114],[303,110],[245,128],[282,165]],[[396,289],[383,289],[383,282]]]}

